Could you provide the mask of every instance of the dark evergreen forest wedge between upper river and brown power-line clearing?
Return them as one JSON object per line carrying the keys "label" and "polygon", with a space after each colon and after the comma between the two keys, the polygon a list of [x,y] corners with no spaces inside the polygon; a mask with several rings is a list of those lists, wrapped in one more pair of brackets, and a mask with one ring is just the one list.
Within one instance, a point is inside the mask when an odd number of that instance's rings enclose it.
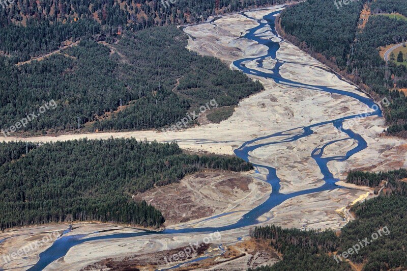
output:
{"label": "dark evergreen forest wedge between upper river and brown power-line clearing", "polygon": [[281,13],[280,23],[289,40],[300,48],[322,53],[344,69],[363,3],[355,1],[337,9],[328,2],[310,0],[289,7]]}

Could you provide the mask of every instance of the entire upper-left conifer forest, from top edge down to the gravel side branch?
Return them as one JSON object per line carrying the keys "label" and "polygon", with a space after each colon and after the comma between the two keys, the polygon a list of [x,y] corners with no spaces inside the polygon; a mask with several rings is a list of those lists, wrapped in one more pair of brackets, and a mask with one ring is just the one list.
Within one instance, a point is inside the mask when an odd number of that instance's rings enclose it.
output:
{"label": "entire upper-left conifer forest, from top edge down to the gravel side branch", "polygon": [[212,99],[237,105],[263,86],[190,52],[168,25],[284,2],[16,0],[0,9],[1,128],[51,99],[57,108],[18,132],[154,129]]}

